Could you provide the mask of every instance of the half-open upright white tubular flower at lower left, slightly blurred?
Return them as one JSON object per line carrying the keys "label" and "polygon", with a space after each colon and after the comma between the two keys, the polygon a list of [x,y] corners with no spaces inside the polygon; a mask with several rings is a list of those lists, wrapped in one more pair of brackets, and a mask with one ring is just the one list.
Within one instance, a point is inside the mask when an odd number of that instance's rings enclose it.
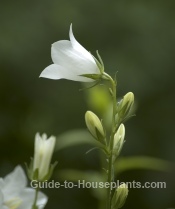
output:
{"label": "half-open upright white tubular flower at lower left, slightly blurred", "polygon": [[56,138],[54,136],[47,139],[46,134],[40,136],[39,133],[37,133],[35,136],[33,173],[38,169],[37,180],[39,181],[48,180],[51,175],[50,162],[55,147],[55,140]]}

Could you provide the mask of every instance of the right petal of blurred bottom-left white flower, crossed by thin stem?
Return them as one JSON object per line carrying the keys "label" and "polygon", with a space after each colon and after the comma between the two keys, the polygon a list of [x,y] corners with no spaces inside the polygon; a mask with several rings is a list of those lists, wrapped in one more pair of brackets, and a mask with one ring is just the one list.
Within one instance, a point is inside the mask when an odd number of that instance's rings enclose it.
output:
{"label": "right petal of blurred bottom-left white flower, crossed by thin stem", "polygon": [[[35,197],[34,189],[26,188],[25,190],[23,190],[20,194],[22,203],[19,209],[31,209],[33,205],[34,197]],[[44,208],[44,206],[47,203],[47,200],[48,200],[47,196],[44,195],[42,192],[39,192],[38,200],[37,200],[37,206],[39,207],[39,209]]]}

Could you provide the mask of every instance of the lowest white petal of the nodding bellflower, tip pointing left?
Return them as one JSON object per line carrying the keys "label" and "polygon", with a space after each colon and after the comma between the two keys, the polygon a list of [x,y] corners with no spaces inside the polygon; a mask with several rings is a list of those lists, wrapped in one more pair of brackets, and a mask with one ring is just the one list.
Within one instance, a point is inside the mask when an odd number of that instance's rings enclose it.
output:
{"label": "lowest white petal of the nodding bellflower, tip pointing left", "polygon": [[92,82],[93,80],[90,78],[85,78],[83,76],[77,76],[73,74],[69,69],[64,68],[60,65],[52,64],[46,67],[40,74],[40,77],[50,78],[53,80],[57,79],[68,79],[73,81],[81,81],[81,82]]}

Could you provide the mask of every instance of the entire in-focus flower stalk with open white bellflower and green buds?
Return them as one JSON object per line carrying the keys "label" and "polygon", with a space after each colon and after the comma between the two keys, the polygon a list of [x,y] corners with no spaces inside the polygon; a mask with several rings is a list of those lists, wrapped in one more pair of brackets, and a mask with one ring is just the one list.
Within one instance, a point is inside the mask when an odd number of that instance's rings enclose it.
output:
{"label": "entire in-focus flower stalk with open white bellflower and green buds", "polygon": [[[53,64],[45,68],[40,77],[80,82],[95,81],[95,85],[102,80],[109,82],[109,92],[112,97],[112,125],[109,139],[107,139],[106,130],[101,120],[93,112],[86,112],[85,122],[89,132],[95,140],[100,142],[100,148],[106,154],[108,162],[107,181],[111,185],[114,181],[114,163],[124,143],[125,127],[121,123],[129,118],[130,110],[134,103],[134,94],[132,92],[127,93],[117,103],[117,81],[104,71],[104,64],[98,51],[98,59],[96,59],[75,39],[72,25],[70,26],[69,37],[70,41],[61,40],[52,45],[51,57]],[[35,171],[37,174],[37,170]],[[109,186],[107,191],[107,209],[117,209],[124,204],[124,200],[127,197],[125,194],[128,193],[128,190],[119,188],[117,191],[117,193],[113,192]],[[122,203],[118,201],[120,196],[123,198]]]}

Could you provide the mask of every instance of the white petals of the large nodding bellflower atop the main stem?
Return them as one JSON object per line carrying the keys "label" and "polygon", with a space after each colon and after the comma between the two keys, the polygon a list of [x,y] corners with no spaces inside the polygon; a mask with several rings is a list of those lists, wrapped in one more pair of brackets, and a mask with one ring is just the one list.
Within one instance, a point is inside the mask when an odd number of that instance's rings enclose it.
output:
{"label": "white petals of the large nodding bellflower atop the main stem", "polygon": [[100,63],[75,39],[72,25],[69,31],[70,41],[61,40],[52,44],[51,57],[54,64],[45,68],[40,77],[50,79],[68,79],[92,82],[82,75],[100,75]]}

